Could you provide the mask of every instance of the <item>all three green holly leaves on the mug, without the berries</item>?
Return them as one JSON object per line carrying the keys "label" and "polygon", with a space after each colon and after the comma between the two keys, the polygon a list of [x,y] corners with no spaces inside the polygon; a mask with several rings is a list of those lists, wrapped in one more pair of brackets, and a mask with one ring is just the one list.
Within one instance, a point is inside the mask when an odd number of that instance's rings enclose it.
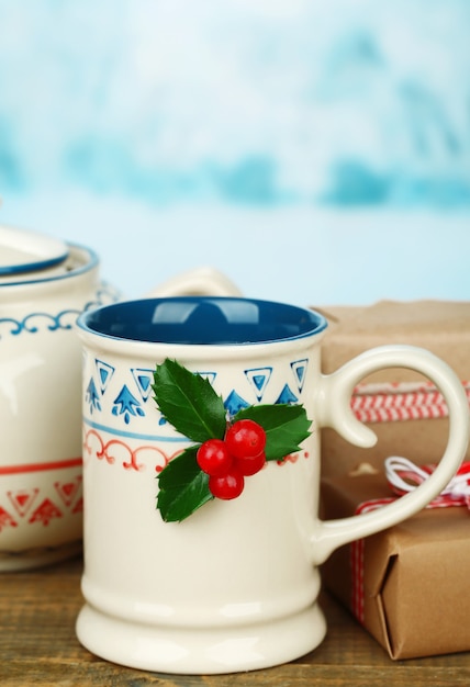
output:
{"label": "all three green holly leaves on the mug, without the berries", "polygon": [[157,508],[166,522],[184,520],[214,498],[197,453],[204,441],[223,439],[228,425],[240,419],[260,425],[266,432],[267,461],[282,461],[300,451],[300,444],[311,433],[311,421],[301,405],[253,405],[227,417],[223,398],[209,380],[169,358],[156,365],[152,388],[164,418],[194,442],[157,475]]}

